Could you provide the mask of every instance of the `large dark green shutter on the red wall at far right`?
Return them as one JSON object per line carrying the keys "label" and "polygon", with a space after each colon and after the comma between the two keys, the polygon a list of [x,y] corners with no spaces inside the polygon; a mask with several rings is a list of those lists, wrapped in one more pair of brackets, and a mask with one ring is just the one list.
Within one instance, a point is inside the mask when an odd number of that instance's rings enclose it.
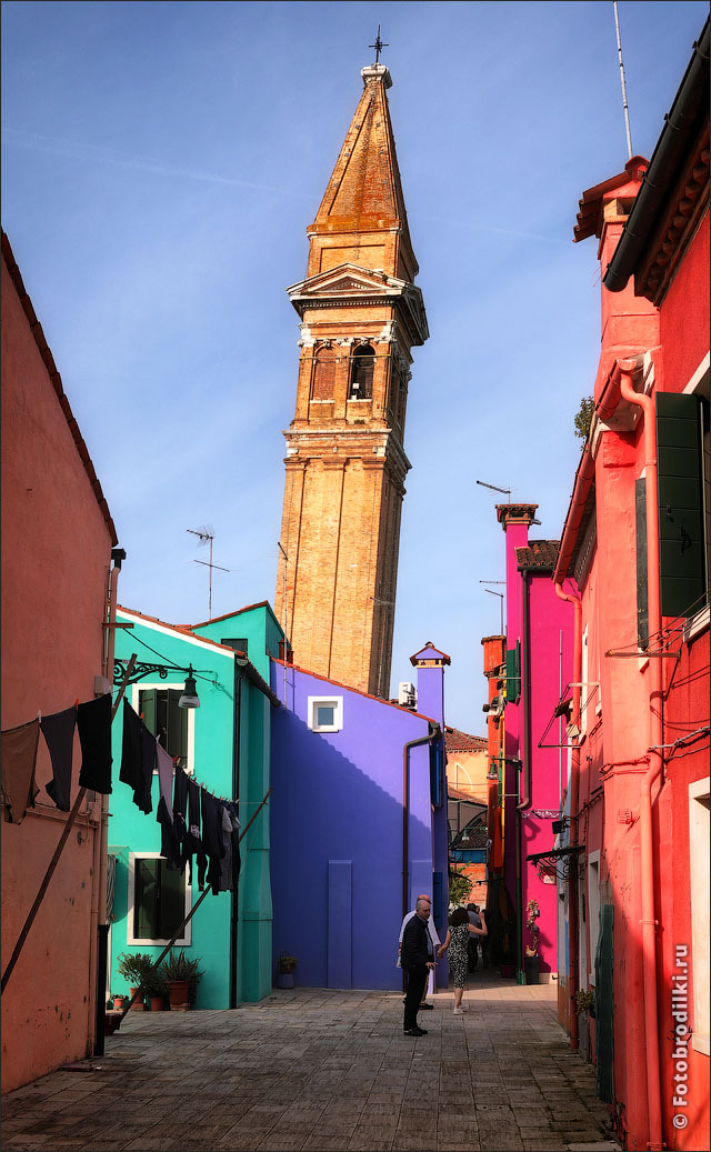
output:
{"label": "large dark green shutter on the red wall at far right", "polygon": [[696,396],[657,393],[661,614],[690,615],[705,593],[701,419]]}

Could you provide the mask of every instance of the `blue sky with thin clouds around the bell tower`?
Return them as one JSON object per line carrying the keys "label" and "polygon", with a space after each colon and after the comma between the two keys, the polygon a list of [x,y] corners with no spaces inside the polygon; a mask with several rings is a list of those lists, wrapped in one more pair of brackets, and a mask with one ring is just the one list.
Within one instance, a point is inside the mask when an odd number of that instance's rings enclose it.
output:
{"label": "blue sky with thin clouds around the bell tower", "polygon": [[[650,157],[705,2],[620,2]],[[486,480],[555,539],[599,355],[584,189],[627,160],[613,5],[2,5],[2,226],[128,559],[121,601],[176,623],[273,601],[313,220],[378,24],[430,340],[415,351],[391,691],[432,641],[447,721],[483,733]],[[494,585],[501,591],[501,588]]]}

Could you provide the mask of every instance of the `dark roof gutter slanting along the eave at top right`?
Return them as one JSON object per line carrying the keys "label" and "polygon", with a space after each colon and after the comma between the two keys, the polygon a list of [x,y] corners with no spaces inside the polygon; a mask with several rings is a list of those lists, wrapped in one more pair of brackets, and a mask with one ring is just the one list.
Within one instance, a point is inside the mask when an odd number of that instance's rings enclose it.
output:
{"label": "dark roof gutter slanting along the eave at top right", "polygon": [[649,235],[655,227],[661,203],[670,184],[676,179],[679,166],[688,152],[690,137],[698,115],[705,108],[709,89],[709,20],[684,73],[681,86],[667,113],[661,136],[646,169],[642,187],[614,255],[607,265],[603,285],[608,291],[622,291],[633,275]]}

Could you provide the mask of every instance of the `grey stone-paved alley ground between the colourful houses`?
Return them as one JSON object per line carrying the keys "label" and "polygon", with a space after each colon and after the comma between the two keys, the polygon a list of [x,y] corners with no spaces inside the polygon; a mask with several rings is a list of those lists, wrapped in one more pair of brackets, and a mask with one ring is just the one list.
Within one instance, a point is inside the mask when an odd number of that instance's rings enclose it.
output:
{"label": "grey stone-paved alley ground between the colourful houses", "polygon": [[484,972],[438,993],[428,1036],[402,998],[274,992],[237,1011],[130,1013],[106,1055],[3,1099],[2,1146],[131,1150],[615,1149],[557,986]]}

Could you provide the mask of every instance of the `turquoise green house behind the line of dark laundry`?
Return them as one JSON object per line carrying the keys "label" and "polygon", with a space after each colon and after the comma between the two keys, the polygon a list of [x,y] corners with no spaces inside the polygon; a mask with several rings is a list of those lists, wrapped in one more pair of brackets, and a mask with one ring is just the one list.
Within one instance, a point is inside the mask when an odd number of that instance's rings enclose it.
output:
{"label": "turquoise green house behind the line of dark laundry", "polygon": [[[270,788],[270,711],[279,700],[268,687],[270,655],[278,657],[282,632],[268,604],[176,627],[139,612],[119,608],[116,664],[136,655],[126,696],[172,757],[214,796],[239,802],[241,828],[257,812]],[[166,670],[167,666],[167,670]],[[186,673],[192,667],[198,708],[181,708]],[[161,675],[165,673],[165,677]],[[135,679],[136,676],[141,679]],[[111,901],[109,984],[124,992],[118,956],[142,952],[156,958],[187,911],[201,896],[197,867],[171,871],[160,857],[158,775],[150,814],[119,780],[122,725],[113,734],[114,789],[108,821]],[[203,977],[197,1008],[229,1008],[257,1001],[272,986],[272,899],[270,887],[270,808],[258,812],[241,842],[237,893],[210,893],[175,947],[198,958]]]}

